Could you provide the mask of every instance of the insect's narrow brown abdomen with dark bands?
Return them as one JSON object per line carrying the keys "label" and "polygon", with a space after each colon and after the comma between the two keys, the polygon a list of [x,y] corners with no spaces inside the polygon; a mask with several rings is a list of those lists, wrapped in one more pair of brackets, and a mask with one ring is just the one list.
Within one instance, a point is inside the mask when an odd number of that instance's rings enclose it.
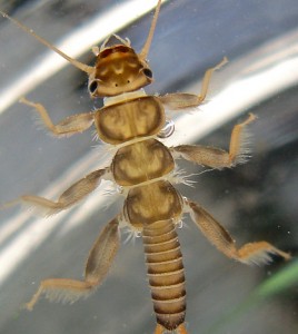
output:
{"label": "insect's narrow brown abdomen with dark bands", "polygon": [[142,239],[157,322],[173,331],[185,321],[186,289],[182,255],[172,219],[147,225]]}

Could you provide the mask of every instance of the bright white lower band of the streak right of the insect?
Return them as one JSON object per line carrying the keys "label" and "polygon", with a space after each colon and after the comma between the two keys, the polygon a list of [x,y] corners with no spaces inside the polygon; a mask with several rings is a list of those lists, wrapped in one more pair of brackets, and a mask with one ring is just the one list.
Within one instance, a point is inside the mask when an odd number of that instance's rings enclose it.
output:
{"label": "bright white lower band of the streak right of the insect", "polygon": [[[197,112],[197,110],[179,117],[179,124],[176,121],[176,130],[185,135],[179,144],[193,143],[259,101],[297,85],[297,69],[298,57],[272,65],[261,72],[256,72],[244,79],[239,78],[238,81],[228,85],[213,96],[210,102],[199,107],[203,112]],[[196,90],[190,87],[186,91]],[[177,137],[175,135],[169,137],[166,144],[169,146],[177,145]]]}

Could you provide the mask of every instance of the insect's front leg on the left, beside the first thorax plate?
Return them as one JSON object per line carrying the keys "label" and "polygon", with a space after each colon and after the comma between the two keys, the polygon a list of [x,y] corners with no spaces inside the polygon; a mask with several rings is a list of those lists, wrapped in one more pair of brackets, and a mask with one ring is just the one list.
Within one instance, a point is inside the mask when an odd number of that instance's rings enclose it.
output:
{"label": "insect's front leg on the left, beside the first thorax plate", "polygon": [[54,136],[71,136],[78,132],[82,132],[90,128],[90,126],[93,124],[95,118],[93,118],[93,112],[88,112],[88,114],[79,114],[79,115],[73,115],[70,117],[67,117],[62,121],[60,121],[58,125],[53,125],[48,111],[46,108],[40,105],[36,104],[32,101],[27,100],[26,98],[21,98],[20,102],[33,107],[39,116],[41,117],[41,120],[43,125],[54,135]]}

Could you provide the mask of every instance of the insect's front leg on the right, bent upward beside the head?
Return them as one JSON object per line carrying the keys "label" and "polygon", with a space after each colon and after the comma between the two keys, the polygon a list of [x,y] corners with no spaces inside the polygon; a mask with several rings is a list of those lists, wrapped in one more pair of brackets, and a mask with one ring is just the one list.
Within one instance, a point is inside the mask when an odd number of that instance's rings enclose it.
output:
{"label": "insect's front leg on the right, bent upward beside the head", "polygon": [[225,57],[217,66],[209,68],[202,78],[201,91],[199,95],[183,94],[183,92],[173,92],[160,96],[160,101],[168,106],[170,109],[183,109],[198,107],[201,105],[207,96],[209,84],[213,71],[220,69],[225,63],[228,62],[228,59]]}

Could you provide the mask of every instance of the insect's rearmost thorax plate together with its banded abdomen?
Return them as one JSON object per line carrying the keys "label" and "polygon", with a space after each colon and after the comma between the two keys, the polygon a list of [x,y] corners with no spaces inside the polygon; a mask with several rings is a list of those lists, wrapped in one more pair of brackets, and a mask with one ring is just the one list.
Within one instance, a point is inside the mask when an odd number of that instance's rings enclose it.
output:
{"label": "insect's rearmost thorax plate together with its banded abdomen", "polygon": [[166,180],[137,186],[125,204],[127,220],[142,232],[149,285],[157,322],[173,331],[185,321],[186,289],[176,223],[182,199]]}

